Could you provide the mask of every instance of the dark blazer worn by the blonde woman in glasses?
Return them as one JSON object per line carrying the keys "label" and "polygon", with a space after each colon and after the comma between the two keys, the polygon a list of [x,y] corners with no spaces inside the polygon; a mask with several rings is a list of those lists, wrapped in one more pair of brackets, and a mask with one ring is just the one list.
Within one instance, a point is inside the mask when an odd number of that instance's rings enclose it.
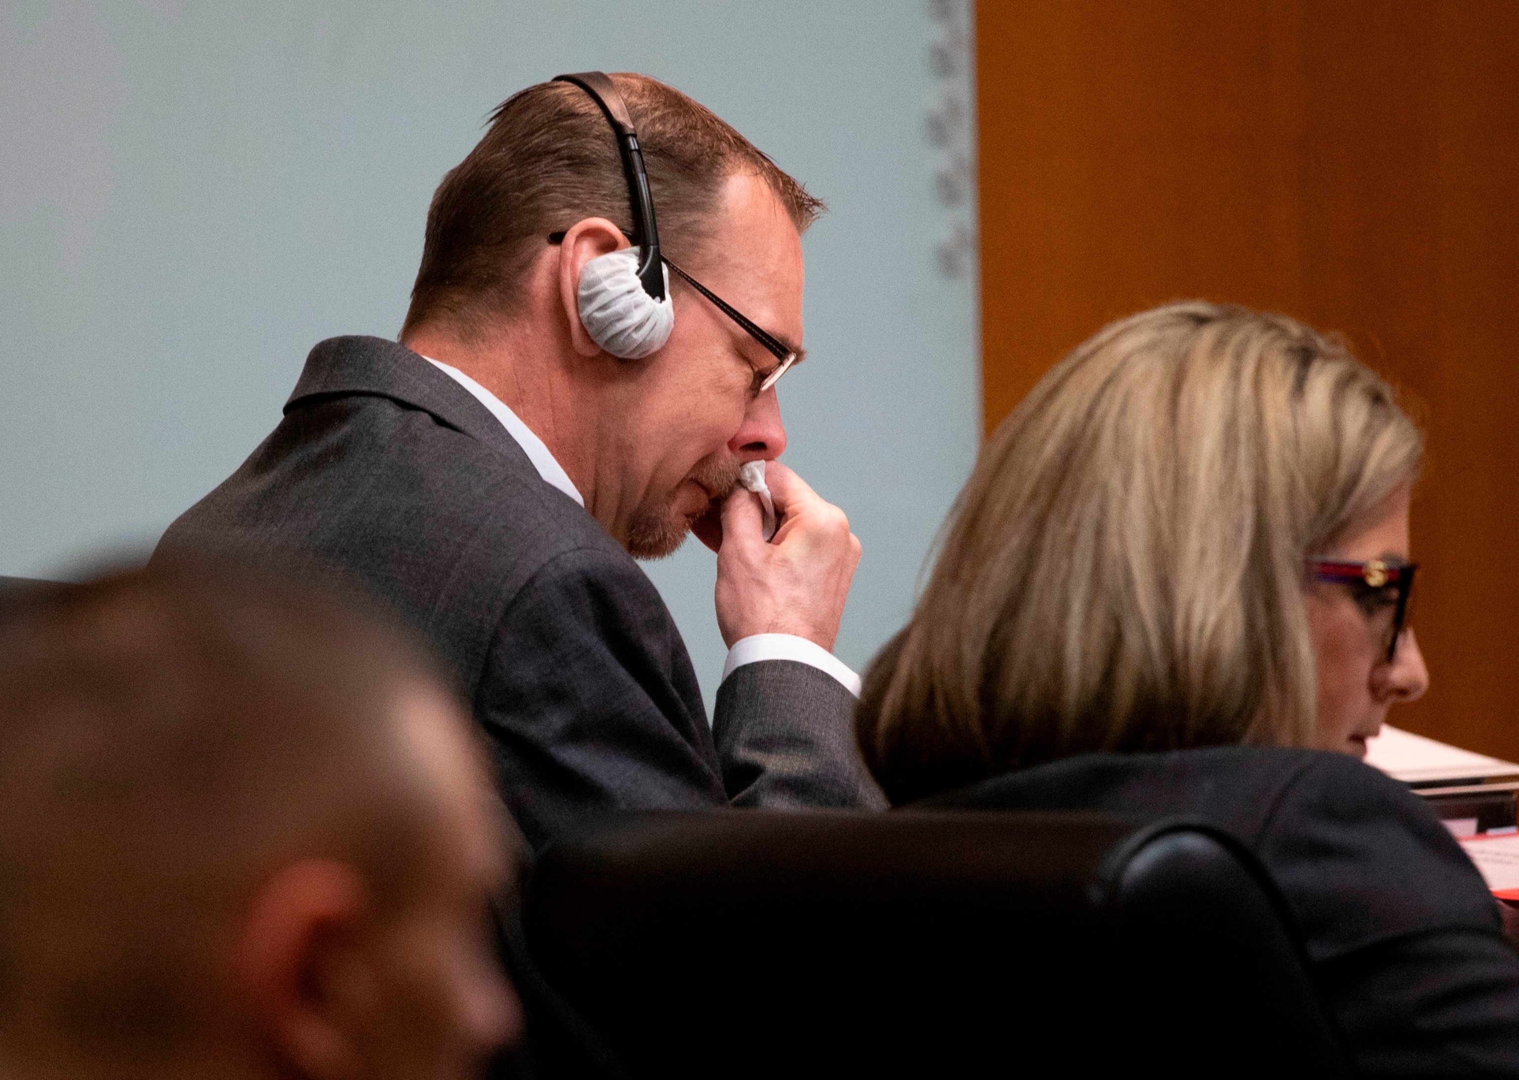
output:
{"label": "dark blazer worn by the blonde woman in glasses", "polygon": [[1217,825],[1281,889],[1361,1072],[1519,1075],[1519,955],[1492,895],[1429,808],[1355,758],[1236,746],[1092,753],[925,805]]}

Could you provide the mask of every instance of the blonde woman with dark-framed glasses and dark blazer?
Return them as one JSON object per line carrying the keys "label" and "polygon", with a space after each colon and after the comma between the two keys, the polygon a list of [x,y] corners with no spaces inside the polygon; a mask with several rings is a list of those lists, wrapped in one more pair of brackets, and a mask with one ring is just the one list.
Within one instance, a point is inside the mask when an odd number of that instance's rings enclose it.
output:
{"label": "blonde woman with dark-framed glasses and dark blazer", "polygon": [[981,453],[867,673],[866,763],[893,804],[1211,820],[1279,886],[1363,1071],[1519,1072],[1492,896],[1356,759],[1428,685],[1404,624],[1422,456],[1388,386],[1291,319],[1104,328]]}

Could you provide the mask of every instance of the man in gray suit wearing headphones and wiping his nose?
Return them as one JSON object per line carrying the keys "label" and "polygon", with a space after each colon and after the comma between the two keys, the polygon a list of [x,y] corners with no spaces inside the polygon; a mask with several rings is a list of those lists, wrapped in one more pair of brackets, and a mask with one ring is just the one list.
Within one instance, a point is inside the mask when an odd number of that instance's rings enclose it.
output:
{"label": "man in gray suit wearing headphones and wiping his nose", "polygon": [[[653,79],[521,91],[433,199],[401,343],[317,345],[159,551],[296,554],[386,598],[451,664],[535,849],[614,808],[884,805],[829,652],[860,544],[775,460],[820,208]],[[618,251],[639,278],[597,276]],[[769,462],[773,542],[729,497],[746,462]],[[633,562],[693,529],[731,647],[711,726]]]}

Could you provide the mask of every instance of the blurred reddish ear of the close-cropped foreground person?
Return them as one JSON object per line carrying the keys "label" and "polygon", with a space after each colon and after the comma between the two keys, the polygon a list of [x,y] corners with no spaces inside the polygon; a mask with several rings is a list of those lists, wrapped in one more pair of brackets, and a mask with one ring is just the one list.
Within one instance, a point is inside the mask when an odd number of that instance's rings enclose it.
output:
{"label": "blurred reddish ear of the close-cropped foreground person", "polygon": [[365,972],[369,899],[345,863],[305,858],[269,878],[243,922],[237,963],[267,1044],[313,1080],[363,1069],[374,987]]}

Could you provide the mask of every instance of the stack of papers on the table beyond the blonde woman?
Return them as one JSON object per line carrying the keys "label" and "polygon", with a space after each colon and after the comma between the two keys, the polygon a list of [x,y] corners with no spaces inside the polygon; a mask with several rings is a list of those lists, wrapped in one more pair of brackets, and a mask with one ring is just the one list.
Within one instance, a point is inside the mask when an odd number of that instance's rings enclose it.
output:
{"label": "stack of papers on the table beyond the blonde woman", "polygon": [[1466,848],[1487,887],[1519,901],[1519,764],[1387,725],[1367,740],[1366,763],[1423,796]]}

